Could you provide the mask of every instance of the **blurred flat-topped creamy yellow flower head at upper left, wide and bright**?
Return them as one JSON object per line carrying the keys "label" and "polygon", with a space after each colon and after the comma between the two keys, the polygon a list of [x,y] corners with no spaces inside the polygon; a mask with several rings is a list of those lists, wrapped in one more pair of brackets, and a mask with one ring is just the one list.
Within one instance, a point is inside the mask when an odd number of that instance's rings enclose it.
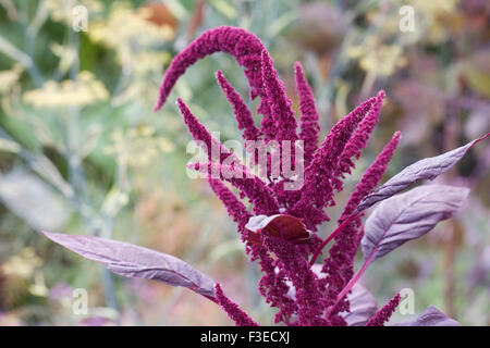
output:
{"label": "blurred flat-topped creamy yellow flower head at upper left, wide and bright", "polygon": [[49,80],[41,89],[29,90],[23,96],[34,108],[86,107],[108,98],[108,90],[90,72],[81,72],[76,80]]}

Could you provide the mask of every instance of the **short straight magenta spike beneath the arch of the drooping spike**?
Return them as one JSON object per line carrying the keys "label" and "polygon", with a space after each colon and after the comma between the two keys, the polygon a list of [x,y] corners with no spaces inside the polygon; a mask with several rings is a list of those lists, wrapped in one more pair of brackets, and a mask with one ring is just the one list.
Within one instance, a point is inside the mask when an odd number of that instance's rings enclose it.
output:
{"label": "short straight magenta spike beneath the arch of the drooping spike", "polygon": [[233,107],[233,112],[235,113],[235,119],[238,123],[238,129],[244,129],[243,138],[245,140],[257,140],[260,135],[260,130],[255,126],[254,117],[252,116],[250,110],[248,110],[245,104],[245,101],[228,82],[221,71],[216,73],[216,78],[218,79],[218,84],[220,85],[228,101]]}

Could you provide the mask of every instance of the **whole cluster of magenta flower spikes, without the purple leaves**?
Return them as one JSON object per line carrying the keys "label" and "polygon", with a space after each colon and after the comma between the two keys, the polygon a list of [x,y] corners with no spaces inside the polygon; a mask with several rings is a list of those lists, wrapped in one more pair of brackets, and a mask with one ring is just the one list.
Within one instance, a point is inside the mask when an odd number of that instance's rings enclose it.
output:
{"label": "whole cluster of magenta flower spikes, without the purple leaves", "polygon": [[[194,139],[203,141],[208,149],[212,146],[221,149],[219,158],[213,159],[208,152],[208,163],[192,163],[188,166],[204,170],[208,174],[212,171],[220,173],[218,177],[209,175],[208,182],[237,223],[237,229],[246,244],[250,259],[261,266],[259,291],[270,306],[278,309],[275,322],[289,325],[346,325],[342,313],[348,312],[350,303],[347,297],[340,295],[353,277],[354,257],[363,236],[362,214],[355,213],[354,210],[381,179],[399,144],[400,133],[395,133],[366,171],[338,221],[339,227],[327,240],[321,240],[313,234],[306,243],[294,244],[262,234],[261,243],[252,243],[246,224],[250,217],[258,214],[267,216],[286,214],[298,217],[308,229],[315,232],[321,223],[329,221],[324,209],[335,204],[334,191],[343,189],[342,179],[354,167],[353,158],[358,159],[360,151],[366,147],[369,135],[379,120],[384,92],[380,91],[378,96],[366,100],[344,116],[319,146],[318,112],[301,64],[295,64],[301,112],[298,127],[292,102],[278,77],[271,57],[260,40],[241,28],[219,27],[204,33],[174,58],[163,77],[160,98],[155,109],[161,108],[173,85],[189,65],[219,51],[230,53],[245,69],[250,86],[250,98],[260,98],[257,113],[262,115],[262,120],[260,127],[257,127],[252,111],[240,94],[225,79],[222,72],[217,73],[218,83],[233,108],[238,128],[243,129],[243,138],[262,140],[266,144],[271,140],[279,142],[302,140],[304,161],[301,165],[304,169],[305,181],[299,189],[286,190],[284,185],[294,178],[282,176],[270,178],[269,172],[266,172],[267,178],[262,178],[250,175],[245,164],[238,162],[233,162],[232,166],[223,164],[224,160],[234,154],[222,145],[217,145],[218,140],[179,99],[179,108]],[[292,153],[293,157],[294,154],[295,152]],[[223,175],[226,171],[249,175],[229,177]],[[228,182],[228,185],[224,182]],[[238,195],[235,195],[229,185],[233,186]],[[248,199],[252,211],[242,201],[243,198]],[[333,244],[319,276],[313,271],[311,265],[330,240],[333,240]],[[294,296],[291,296],[292,289]],[[237,324],[255,324],[234,303],[224,298],[219,286],[216,291],[220,304]],[[382,308],[369,324],[382,325],[399,302],[400,296]]]}

